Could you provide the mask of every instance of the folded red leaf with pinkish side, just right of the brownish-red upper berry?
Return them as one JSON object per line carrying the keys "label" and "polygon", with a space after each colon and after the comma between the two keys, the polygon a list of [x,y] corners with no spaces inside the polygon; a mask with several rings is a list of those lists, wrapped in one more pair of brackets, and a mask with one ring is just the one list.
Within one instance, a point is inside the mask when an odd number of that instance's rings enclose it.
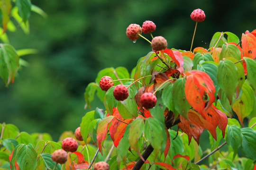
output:
{"label": "folded red leaf with pinkish side, just right of the brownish-red upper berry", "polygon": [[176,64],[176,69],[179,70],[179,72],[181,74],[183,74],[184,62],[183,62],[183,57],[182,57],[180,51],[175,51],[175,50],[173,51],[171,49],[165,49],[164,52],[174,60],[174,63]]}

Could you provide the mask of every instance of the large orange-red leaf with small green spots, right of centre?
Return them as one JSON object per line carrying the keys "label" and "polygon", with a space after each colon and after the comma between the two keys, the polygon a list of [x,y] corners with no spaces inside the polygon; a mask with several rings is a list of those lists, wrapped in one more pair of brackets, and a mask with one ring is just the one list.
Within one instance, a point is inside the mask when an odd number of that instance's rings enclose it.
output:
{"label": "large orange-red leaf with small green spots, right of centre", "polygon": [[[213,85],[210,76],[199,70],[191,70],[185,73],[186,83],[185,83],[185,94],[186,99],[194,110],[202,114],[204,108],[207,110],[210,105],[214,102],[215,96],[215,86]],[[205,107],[205,102],[203,100],[204,93],[209,95],[209,101]]]}

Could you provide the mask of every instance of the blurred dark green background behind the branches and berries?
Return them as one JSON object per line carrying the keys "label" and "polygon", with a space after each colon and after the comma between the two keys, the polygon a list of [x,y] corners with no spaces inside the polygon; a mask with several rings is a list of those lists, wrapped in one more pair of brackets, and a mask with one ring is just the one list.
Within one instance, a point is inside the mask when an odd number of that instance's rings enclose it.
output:
{"label": "blurred dark green background behind the branches and berries", "polygon": [[[47,132],[55,141],[62,132],[74,131],[89,109],[83,93],[97,73],[106,67],[123,66],[131,71],[137,59],[151,51],[139,38],[126,37],[131,23],[146,20],[156,25],[168,48],[189,51],[195,22],[190,18],[201,8],[206,19],[198,24],[193,47],[208,48],[215,32],[238,37],[256,29],[256,1],[223,0],[31,0],[47,18],[33,13],[30,33],[20,28],[9,32],[15,49],[33,48],[38,53],[22,57],[27,67],[18,71],[15,82],[0,81],[0,122],[15,124],[28,133]],[[148,34],[145,37],[150,39]],[[151,40],[151,39],[150,39]],[[97,101],[92,109],[103,108]]]}

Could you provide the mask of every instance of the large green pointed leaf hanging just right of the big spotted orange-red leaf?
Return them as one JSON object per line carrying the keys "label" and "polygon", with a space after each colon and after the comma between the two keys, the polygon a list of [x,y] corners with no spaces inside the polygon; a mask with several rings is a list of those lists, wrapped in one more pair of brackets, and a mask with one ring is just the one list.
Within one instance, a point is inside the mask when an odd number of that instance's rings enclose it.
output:
{"label": "large green pointed leaf hanging just right of the big spotted orange-red leaf", "polygon": [[229,99],[229,104],[232,103],[232,96],[236,92],[238,86],[238,68],[230,60],[221,60],[217,69],[217,79],[220,88],[224,91]]}

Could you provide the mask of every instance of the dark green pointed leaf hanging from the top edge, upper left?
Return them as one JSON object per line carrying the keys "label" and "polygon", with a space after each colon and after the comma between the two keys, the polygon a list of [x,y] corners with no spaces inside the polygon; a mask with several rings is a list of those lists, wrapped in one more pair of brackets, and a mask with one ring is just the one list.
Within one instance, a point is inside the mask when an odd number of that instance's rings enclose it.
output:
{"label": "dark green pointed leaf hanging from the top edge, upper left", "polygon": [[30,0],[16,0],[16,6],[18,7],[18,15],[23,19],[23,22],[25,23],[30,16]]}

